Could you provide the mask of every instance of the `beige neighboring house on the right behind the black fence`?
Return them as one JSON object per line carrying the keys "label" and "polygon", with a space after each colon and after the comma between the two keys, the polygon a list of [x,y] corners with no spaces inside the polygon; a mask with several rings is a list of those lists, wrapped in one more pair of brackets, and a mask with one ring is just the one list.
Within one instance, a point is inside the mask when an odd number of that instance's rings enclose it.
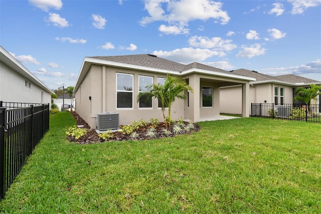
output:
{"label": "beige neighboring house on the right behind the black fence", "polygon": [[[295,88],[309,87],[310,84],[321,85],[321,82],[316,80],[293,74],[270,76],[246,69],[234,70],[231,71],[231,73],[256,79],[255,81],[250,81],[250,114],[251,103],[274,103],[275,105],[290,104],[293,103],[292,100],[296,96],[294,93]],[[242,114],[242,105],[240,104],[240,97],[242,95],[241,88],[241,85],[221,87],[221,113]],[[321,99],[319,98],[318,102],[320,100]],[[295,102],[295,104],[304,103],[298,101]]]}

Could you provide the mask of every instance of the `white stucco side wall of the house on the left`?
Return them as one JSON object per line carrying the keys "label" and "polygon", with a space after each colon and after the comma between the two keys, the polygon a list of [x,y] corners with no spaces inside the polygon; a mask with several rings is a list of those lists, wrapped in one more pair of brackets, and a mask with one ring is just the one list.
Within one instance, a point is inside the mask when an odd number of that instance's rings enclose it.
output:
{"label": "white stucco side wall of the house on the left", "polygon": [[[29,88],[25,81],[31,83]],[[43,92],[43,99],[42,93]],[[0,62],[0,100],[7,102],[51,103],[51,94]]]}

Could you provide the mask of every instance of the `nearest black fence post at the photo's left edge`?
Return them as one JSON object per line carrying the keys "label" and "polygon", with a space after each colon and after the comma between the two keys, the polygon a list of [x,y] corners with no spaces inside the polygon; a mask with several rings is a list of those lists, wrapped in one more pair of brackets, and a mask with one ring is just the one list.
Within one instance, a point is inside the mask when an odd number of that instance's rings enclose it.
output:
{"label": "nearest black fence post at the photo's left edge", "polygon": [[6,128],[6,108],[0,108],[0,199],[5,197],[5,160],[6,160],[6,144],[5,144],[5,128]]}

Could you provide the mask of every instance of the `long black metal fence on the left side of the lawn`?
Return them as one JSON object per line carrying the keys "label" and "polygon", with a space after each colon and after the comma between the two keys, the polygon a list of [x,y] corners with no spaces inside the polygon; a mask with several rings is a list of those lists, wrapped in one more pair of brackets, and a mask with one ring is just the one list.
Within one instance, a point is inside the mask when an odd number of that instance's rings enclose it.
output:
{"label": "long black metal fence on the left side of the lawn", "polygon": [[49,103],[8,110],[0,107],[0,199],[48,130]]}

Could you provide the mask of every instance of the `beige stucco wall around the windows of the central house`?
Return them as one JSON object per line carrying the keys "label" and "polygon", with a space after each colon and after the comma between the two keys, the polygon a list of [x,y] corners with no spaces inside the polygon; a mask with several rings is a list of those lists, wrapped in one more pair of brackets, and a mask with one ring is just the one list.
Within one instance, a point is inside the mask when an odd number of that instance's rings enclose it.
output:
{"label": "beige stucco wall around the windows of the central house", "polygon": [[[116,73],[133,74],[133,108],[116,108]],[[157,84],[157,77],[166,78],[166,74],[143,72],[136,70],[108,67],[104,65],[92,65],[83,79],[80,87],[75,92],[76,112],[88,125],[95,129],[97,126],[96,117],[102,112],[119,113],[119,124],[127,125],[132,121],[144,119],[149,122],[150,118],[164,121],[161,109],[157,108],[157,100],[153,100],[152,109],[139,109],[136,97],[138,95],[139,75],[152,76],[153,83]],[[91,96],[91,100],[89,100]],[[168,111],[166,111],[166,115]],[[184,118],[184,100],[177,100],[172,106],[172,119]]]}

